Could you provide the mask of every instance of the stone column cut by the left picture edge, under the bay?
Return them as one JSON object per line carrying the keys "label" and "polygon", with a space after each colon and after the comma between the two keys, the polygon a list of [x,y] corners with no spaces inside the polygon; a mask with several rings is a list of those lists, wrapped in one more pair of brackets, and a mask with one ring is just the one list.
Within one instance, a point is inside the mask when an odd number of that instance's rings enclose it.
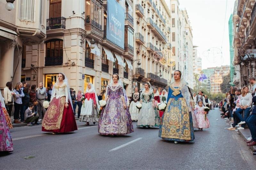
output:
{"label": "stone column cut by the left picture edge, under the bay", "polygon": [[0,54],[0,89],[5,87],[7,81],[12,81],[13,76],[13,55],[16,43],[14,40],[2,41],[2,49]]}

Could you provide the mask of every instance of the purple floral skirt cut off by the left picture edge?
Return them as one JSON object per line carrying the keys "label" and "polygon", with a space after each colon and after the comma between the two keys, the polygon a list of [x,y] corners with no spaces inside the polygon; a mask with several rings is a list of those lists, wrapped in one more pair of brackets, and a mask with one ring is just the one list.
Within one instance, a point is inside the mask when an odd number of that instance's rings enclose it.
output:
{"label": "purple floral skirt cut off by the left picture edge", "polygon": [[0,103],[0,151],[12,152],[12,137]]}

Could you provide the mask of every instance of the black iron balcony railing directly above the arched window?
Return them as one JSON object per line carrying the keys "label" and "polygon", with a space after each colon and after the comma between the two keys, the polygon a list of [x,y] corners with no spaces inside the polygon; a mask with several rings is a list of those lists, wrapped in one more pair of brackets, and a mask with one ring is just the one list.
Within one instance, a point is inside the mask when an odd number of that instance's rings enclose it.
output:
{"label": "black iron balcony railing directly above the arched window", "polygon": [[57,17],[49,18],[46,20],[46,30],[53,30],[58,28],[66,29],[66,18]]}

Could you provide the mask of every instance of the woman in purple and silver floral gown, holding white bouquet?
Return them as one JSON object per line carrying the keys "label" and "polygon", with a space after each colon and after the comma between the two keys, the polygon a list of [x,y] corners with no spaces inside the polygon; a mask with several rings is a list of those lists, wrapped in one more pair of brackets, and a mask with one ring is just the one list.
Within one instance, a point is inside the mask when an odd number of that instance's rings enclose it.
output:
{"label": "woman in purple and silver floral gown, holding white bouquet", "polygon": [[112,76],[113,82],[107,86],[105,108],[102,109],[98,131],[101,135],[125,135],[133,132],[132,119],[127,108],[126,94],[119,81],[119,75]]}

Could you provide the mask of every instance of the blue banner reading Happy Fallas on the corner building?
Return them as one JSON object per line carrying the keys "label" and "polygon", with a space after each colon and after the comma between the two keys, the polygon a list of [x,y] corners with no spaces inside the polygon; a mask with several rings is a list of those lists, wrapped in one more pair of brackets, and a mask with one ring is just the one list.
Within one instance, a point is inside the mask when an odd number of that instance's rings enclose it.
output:
{"label": "blue banner reading Happy Fallas on the corner building", "polygon": [[108,0],[107,39],[124,49],[124,8]]}

